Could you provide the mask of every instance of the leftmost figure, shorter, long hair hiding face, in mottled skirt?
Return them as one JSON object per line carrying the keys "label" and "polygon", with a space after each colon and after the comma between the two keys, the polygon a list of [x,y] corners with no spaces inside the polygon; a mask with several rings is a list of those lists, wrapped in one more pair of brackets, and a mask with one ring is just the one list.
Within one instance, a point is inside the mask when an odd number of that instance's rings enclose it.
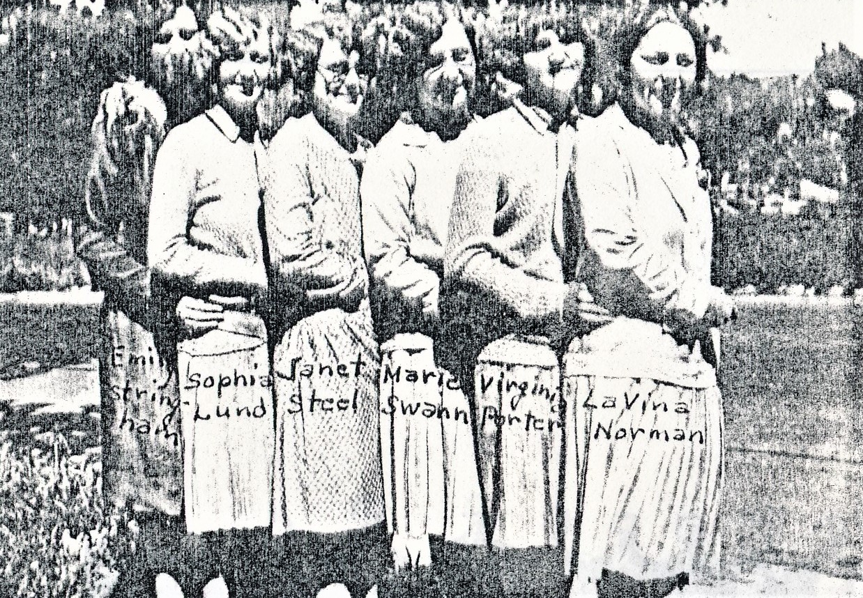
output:
{"label": "leftmost figure, shorter, long hair hiding face, in mottled skirt", "polygon": [[141,82],[102,92],[91,128],[87,218],[76,231],[77,254],[93,289],[104,293],[104,494],[109,504],[129,509],[141,529],[134,561],[114,596],[152,594],[161,572],[183,578],[183,563],[167,558],[181,538],[180,400],[173,351],[165,343],[173,326],[170,311],[149,292],[142,234],[166,121],[165,104]]}

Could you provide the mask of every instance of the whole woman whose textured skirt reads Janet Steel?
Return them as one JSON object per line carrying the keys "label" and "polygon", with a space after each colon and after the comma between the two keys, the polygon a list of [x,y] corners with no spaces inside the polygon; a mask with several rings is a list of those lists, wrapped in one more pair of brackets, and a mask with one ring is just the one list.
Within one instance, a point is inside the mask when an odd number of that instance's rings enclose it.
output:
{"label": "whole woman whose textured skirt reads Janet Steel", "polygon": [[[321,24],[317,60],[297,73],[312,113],[288,119],[270,144],[265,222],[273,292],[276,450],[273,533],[288,595],[333,582],[365,595],[386,559],[379,349],[362,259],[359,181],[324,129],[356,110],[362,87],[350,28]],[[318,122],[319,116],[321,122]],[[301,572],[301,573],[300,573]]]}

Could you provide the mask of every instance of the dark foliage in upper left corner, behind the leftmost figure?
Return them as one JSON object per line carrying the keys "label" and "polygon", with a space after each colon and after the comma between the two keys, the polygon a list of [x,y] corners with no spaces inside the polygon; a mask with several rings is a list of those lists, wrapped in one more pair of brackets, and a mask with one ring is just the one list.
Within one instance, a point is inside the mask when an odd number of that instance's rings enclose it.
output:
{"label": "dark foliage in upper left corner, behind the leftmost figure", "polygon": [[79,211],[99,93],[148,73],[154,21],[16,9],[0,47],[0,210]]}

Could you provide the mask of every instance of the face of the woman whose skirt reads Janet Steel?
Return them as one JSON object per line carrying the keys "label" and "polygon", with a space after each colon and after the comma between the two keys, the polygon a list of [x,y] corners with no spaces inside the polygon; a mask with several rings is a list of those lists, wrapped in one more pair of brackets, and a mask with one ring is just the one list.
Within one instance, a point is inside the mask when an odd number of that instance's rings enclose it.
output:
{"label": "face of the woman whose skirt reads Janet Steel", "polygon": [[360,110],[367,82],[356,72],[360,56],[345,54],[342,45],[327,38],[318,57],[313,91],[315,113],[327,123],[345,126]]}

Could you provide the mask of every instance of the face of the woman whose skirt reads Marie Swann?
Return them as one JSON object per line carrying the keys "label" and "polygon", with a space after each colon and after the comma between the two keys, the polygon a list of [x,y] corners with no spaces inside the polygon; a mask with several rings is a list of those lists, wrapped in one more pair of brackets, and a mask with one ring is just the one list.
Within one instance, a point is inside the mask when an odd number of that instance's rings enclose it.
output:
{"label": "face of the woman whose skirt reads Marie Swann", "polygon": [[431,66],[420,75],[417,86],[421,113],[443,125],[467,122],[476,59],[461,22],[444,23],[441,36],[429,48],[428,60]]}

